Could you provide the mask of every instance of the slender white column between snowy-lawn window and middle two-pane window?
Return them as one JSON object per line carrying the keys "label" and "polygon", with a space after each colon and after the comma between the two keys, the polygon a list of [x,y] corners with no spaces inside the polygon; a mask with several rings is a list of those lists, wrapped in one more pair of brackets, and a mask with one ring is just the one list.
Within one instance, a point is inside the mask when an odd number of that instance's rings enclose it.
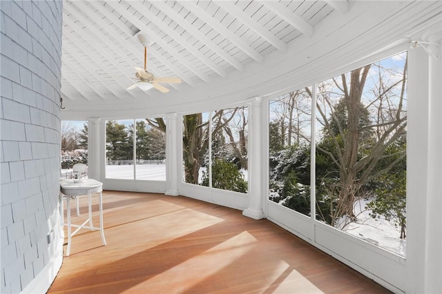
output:
{"label": "slender white column between snowy-lawn window and middle two-pane window", "polygon": [[[180,124],[181,126],[181,124]],[[177,196],[180,195],[178,190],[178,175],[180,173],[180,164],[178,164],[178,121],[177,114],[173,113],[167,117],[166,128],[166,195]]]}

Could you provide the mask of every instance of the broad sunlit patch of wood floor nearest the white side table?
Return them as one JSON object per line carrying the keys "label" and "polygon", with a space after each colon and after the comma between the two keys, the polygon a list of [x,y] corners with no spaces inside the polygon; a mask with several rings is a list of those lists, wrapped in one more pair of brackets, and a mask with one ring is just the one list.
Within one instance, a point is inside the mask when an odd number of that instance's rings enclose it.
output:
{"label": "broad sunlit patch of wood floor nearest the white side table", "polygon": [[[73,238],[75,242],[73,244],[73,256],[77,253],[77,248],[90,247],[90,252],[81,252],[82,259],[94,259],[95,250],[99,250],[106,251],[108,262],[119,262],[130,258],[132,255],[142,254],[144,251],[163,248],[164,246],[175,246],[173,244],[174,240],[180,240],[181,237],[204,230],[224,220],[220,217],[200,213],[183,206],[165,204],[161,200],[155,200],[150,204],[149,208],[142,208],[144,217],[140,217],[142,215],[141,212],[135,211],[131,215],[112,219],[112,222],[115,222],[116,225],[105,226],[104,230],[107,241],[106,246],[100,246],[101,239],[99,234],[80,233],[76,235]],[[133,210],[135,209],[133,208]],[[157,215],[157,210],[166,211],[166,213]],[[104,215],[104,217],[110,217],[110,214]],[[108,222],[108,224],[110,223]],[[132,231],[136,237],[121,239],[118,233],[113,233],[122,228]],[[99,247],[95,248],[95,246],[87,246],[85,244],[99,244]],[[127,252],[130,255],[127,255],[124,251],[122,252],[120,250],[121,247],[127,248]],[[131,268],[131,264],[123,263],[119,269],[124,270],[126,268]],[[107,271],[111,271],[111,269],[101,268],[99,272],[106,273]]]}

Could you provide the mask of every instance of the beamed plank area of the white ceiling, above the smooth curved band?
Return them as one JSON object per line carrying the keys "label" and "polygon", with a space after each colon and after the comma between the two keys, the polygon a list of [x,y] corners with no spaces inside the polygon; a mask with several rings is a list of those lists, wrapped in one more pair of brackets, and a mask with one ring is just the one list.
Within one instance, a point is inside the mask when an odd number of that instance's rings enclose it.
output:
{"label": "beamed plank area of the white ceiling, above the smooth curved band", "polygon": [[[413,1],[408,2],[401,10],[413,10]],[[167,104],[167,99],[179,105],[201,88],[223,83],[234,87],[242,77],[253,75],[251,72],[256,75],[257,68],[265,69],[266,61],[290,55],[288,50],[296,51],[298,43],[318,43],[331,35],[333,30],[323,32],[331,23],[336,25],[335,30],[344,28],[362,14],[363,10],[354,9],[352,4],[354,1],[342,0],[65,0],[61,68],[64,106],[67,112],[74,109],[79,115],[91,108],[98,112]],[[437,7],[440,13],[440,5]],[[394,5],[386,9],[396,13]],[[425,9],[415,12],[420,10]],[[381,21],[385,17],[362,30],[369,31]],[[137,39],[140,34],[148,39],[147,70],[155,77],[182,79],[182,84],[162,84],[170,89],[166,94],[155,88],[126,90],[136,81],[134,67],[144,66],[144,46]],[[349,41],[343,35],[343,42]],[[271,73],[262,70],[262,75],[267,74]],[[225,84],[231,79],[232,84]],[[253,83],[236,87],[250,88]]]}

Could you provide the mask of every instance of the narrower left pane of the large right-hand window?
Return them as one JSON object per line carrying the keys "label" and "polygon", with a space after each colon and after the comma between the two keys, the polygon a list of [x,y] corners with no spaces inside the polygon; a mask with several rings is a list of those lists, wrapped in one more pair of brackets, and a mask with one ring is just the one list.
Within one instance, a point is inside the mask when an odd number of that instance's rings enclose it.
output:
{"label": "narrower left pane of the large right-hand window", "polygon": [[311,87],[269,101],[269,200],[310,215]]}

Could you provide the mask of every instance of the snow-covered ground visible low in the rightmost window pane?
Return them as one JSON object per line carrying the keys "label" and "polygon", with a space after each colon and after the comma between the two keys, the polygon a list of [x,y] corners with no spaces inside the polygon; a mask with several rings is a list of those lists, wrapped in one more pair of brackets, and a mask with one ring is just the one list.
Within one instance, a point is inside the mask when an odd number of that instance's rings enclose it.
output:
{"label": "snow-covered ground visible low in the rightmost window pane", "polygon": [[365,239],[367,242],[375,244],[388,251],[405,256],[406,241],[399,239],[401,228],[394,226],[393,222],[380,219],[373,219],[369,216],[371,210],[365,210],[365,204],[370,200],[358,200],[354,207],[354,213],[358,218],[357,222],[347,224],[343,231],[355,237]]}

